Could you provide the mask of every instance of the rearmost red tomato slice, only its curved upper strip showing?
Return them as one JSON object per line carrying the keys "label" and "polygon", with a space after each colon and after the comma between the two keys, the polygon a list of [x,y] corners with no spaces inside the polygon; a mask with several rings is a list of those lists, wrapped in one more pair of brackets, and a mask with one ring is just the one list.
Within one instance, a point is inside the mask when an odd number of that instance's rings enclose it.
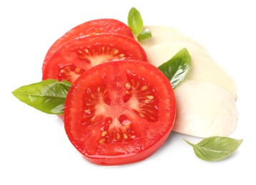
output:
{"label": "rearmost red tomato slice, only its curved upper strip showing", "polygon": [[[92,21],[82,23],[70,31],[65,33],[61,38],[56,40],[47,51],[44,58],[44,64],[46,60],[55,53],[55,51],[64,43],[77,37],[92,35],[95,33],[119,33],[122,35],[130,36],[133,38],[133,34],[129,26],[125,23],[112,18],[101,18]],[[44,68],[43,64],[43,68]]]}

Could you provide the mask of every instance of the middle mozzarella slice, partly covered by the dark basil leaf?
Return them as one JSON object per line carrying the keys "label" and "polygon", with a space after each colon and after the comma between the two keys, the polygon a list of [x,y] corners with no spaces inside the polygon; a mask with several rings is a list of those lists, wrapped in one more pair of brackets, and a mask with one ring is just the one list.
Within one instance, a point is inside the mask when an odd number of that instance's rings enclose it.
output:
{"label": "middle mozzarella slice, partly covered by the dark basil leaf", "polygon": [[187,75],[187,80],[200,80],[220,85],[236,100],[237,88],[235,82],[202,48],[191,43],[172,42],[157,44],[145,49],[145,51],[149,63],[158,67],[167,62],[182,48],[187,48],[192,58],[192,68]]}

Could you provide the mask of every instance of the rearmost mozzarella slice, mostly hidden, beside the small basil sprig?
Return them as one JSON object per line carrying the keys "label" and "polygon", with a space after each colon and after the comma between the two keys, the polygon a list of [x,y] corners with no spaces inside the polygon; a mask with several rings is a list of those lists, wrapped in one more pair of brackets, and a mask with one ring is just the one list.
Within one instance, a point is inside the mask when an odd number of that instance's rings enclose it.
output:
{"label": "rearmost mozzarella slice, mostly hidden, beside the small basil sprig", "polygon": [[202,49],[205,49],[202,44],[193,39],[185,36],[182,33],[177,32],[159,32],[159,33],[152,33],[152,38],[147,38],[143,41],[140,41],[140,44],[144,49],[149,48],[151,46],[157,45],[159,43],[172,43],[172,42],[184,42],[184,43],[191,43],[195,46],[198,46]]}

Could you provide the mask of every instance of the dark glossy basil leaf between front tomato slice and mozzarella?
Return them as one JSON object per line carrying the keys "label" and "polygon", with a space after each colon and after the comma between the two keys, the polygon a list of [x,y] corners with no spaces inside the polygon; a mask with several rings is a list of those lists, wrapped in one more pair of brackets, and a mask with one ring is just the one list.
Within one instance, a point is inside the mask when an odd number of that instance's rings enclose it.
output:
{"label": "dark glossy basil leaf between front tomato slice and mozzarella", "polygon": [[175,88],[179,83],[184,80],[189,69],[191,68],[191,57],[186,48],[180,50],[175,56],[173,56],[166,63],[160,65],[159,70],[167,76],[172,84],[172,88]]}

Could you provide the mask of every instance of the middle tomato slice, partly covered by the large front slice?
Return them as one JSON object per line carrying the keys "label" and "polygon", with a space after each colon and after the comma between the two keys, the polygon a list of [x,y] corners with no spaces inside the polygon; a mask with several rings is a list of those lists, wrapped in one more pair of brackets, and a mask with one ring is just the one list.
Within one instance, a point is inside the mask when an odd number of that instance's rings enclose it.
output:
{"label": "middle tomato slice, partly covered by the large front slice", "polygon": [[47,60],[43,80],[54,78],[73,83],[94,65],[127,58],[147,61],[144,49],[134,38],[110,33],[76,38],[64,43]]}

